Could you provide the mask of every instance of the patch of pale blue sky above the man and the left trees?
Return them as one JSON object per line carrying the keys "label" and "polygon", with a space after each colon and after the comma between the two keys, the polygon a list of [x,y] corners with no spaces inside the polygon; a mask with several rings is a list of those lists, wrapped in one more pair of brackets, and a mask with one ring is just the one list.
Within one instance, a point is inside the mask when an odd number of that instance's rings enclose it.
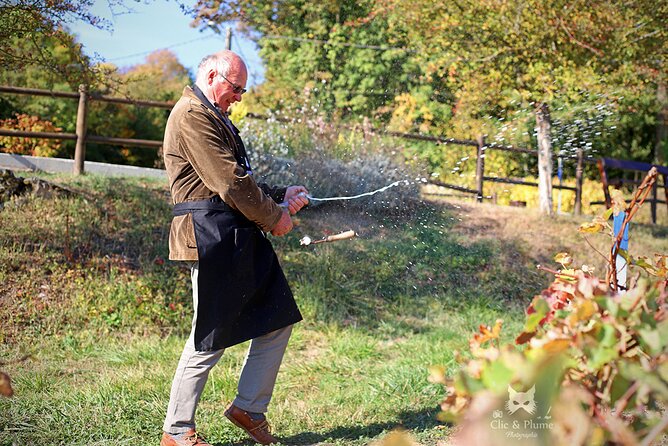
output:
{"label": "patch of pale blue sky above the man and the left trees", "polygon": [[[149,53],[167,48],[194,72],[202,57],[225,46],[224,27],[220,28],[221,34],[213,29],[201,32],[191,28],[191,18],[174,1],[155,0],[148,4],[126,1],[125,4],[132,12],[114,14],[107,0],[95,2],[91,12],[111,21],[111,32],[84,23],[67,25],[84,45],[86,54],[98,54],[107,62],[125,67],[140,64]],[[248,85],[261,83],[264,68],[255,43],[233,31],[232,50],[248,65]]]}

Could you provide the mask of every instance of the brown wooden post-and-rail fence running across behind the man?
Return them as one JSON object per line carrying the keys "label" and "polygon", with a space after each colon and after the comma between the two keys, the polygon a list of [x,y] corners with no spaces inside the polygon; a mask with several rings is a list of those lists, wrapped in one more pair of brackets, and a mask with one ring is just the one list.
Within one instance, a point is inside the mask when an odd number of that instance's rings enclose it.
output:
{"label": "brown wooden post-and-rail fence running across behind the man", "polygon": [[[79,92],[78,93],[62,92],[62,91],[50,91],[50,90],[39,90],[39,89],[34,89],[34,88],[20,88],[20,87],[12,87],[12,86],[0,86],[0,93],[10,93],[10,94],[19,94],[19,95],[35,95],[35,96],[49,96],[49,97],[53,97],[53,98],[77,99],[79,101],[79,106],[78,106],[78,109],[77,109],[76,133],[24,132],[24,131],[11,130],[11,129],[0,129],[0,136],[30,137],[30,138],[44,138],[44,139],[58,139],[58,140],[76,141],[76,147],[75,147],[75,152],[74,152],[74,173],[75,174],[82,174],[84,172],[84,161],[85,161],[85,158],[86,158],[86,143],[87,142],[98,143],[98,144],[110,144],[110,145],[125,144],[125,145],[137,146],[137,147],[156,147],[156,148],[162,147],[162,141],[156,141],[156,140],[114,138],[114,137],[107,137],[107,136],[88,135],[87,128],[86,128],[86,122],[87,122],[86,117],[87,117],[87,111],[88,111],[88,103],[90,101],[112,102],[112,103],[117,103],[117,104],[128,104],[128,105],[143,106],[143,107],[159,107],[159,108],[165,108],[165,109],[171,109],[174,106],[173,102],[146,101],[146,100],[135,100],[135,99],[129,99],[129,98],[125,99],[125,98],[117,98],[117,97],[103,96],[103,95],[100,95],[100,94],[90,93],[90,92],[87,91],[87,88],[84,85],[79,86]],[[256,115],[256,114],[252,114],[252,113],[249,113],[247,116],[251,119],[267,119],[266,116]],[[286,120],[286,121],[288,121],[288,120]],[[352,127],[352,128],[354,129],[354,127]],[[428,141],[428,142],[433,142],[433,143],[436,143],[436,144],[444,144],[444,145],[454,144],[454,145],[475,147],[475,149],[476,149],[476,188],[475,189],[469,189],[469,188],[466,188],[466,187],[463,187],[463,186],[458,186],[458,185],[454,185],[454,184],[447,184],[447,183],[444,183],[444,182],[441,182],[441,181],[435,181],[435,180],[431,180],[429,182],[431,184],[434,184],[434,185],[437,185],[437,186],[442,186],[442,187],[457,190],[457,191],[460,191],[460,192],[473,194],[476,197],[476,200],[478,202],[482,202],[483,199],[485,199],[485,198],[490,198],[490,197],[485,197],[485,195],[483,193],[484,184],[487,181],[495,182],[495,183],[506,183],[506,184],[516,184],[516,185],[538,187],[538,183],[523,181],[523,180],[519,180],[519,179],[485,176],[485,156],[484,155],[485,155],[486,152],[499,150],[499,151],[506,151],[506,152],[514,152],[514,153],[524,153],[524,154],[529,154],[529,155],[537,157],[538,152],[535,149],[525,149],[525,148],[519,148],[519,147],[513,147],[513,146],[499,145],[499,144],[494,144],[494,143],[487,144],[485,142],[485,139],[484,139],[483,136],[479,136],[476,140],[462,140],[462,139],[437,137],[437,136],[422,135],[422,134],[415,134],[415,133],[400,133],[400,132],[393,132],[393,131],[388,131],[388,130],[378,130],[378,129],[373,129],[373,132],[374,133],[385,134],[385,135],[389,135],[389,136],[393,136],[393,137],[398,137],[398,138],[409,139],[409,140]],[[575,187],[563,186],[561,184],[553,185],[552,187],[554,189],[574,191],[575,192],[574,211],[575,211],[576,214],[580,214],[582,212],[583,166],[584,166],[585,162],[596,163],[597,160],[594,159],[594,158],[585,157],[584,154],[583,154],[583,151],[581,149],[578,150],[577,155],[573,158],[575,158],[575,161],[576,161]],[[666,169],[666,168],[664,167],[664,169]],[[639,170],[639,169],[631,168],[631,170]],[[666,175],[663,176],[663,181],[664,181],[663,187],[666,190],[666,193],[668,195],[668,185],[666,184]],[[602,182],[603,182],[604,194],[607,197],[608,196],[608,183],[607,183],[607,179],[605,178],[605,172],[604,171],[602,171]],[[666,201],[662,201],[662,200],[658,199],[656,191],[657,191],[657,188],[655,187],[653,198],[651,200],[651,203],[652,203],[652,221],[654,223],[656,223],[656,204],[657,203],[666,203]],[[606,204],[607,206],[609,206],[609,202],[607,200],[606,200],[606,202],[601,202],[600,204]]]}

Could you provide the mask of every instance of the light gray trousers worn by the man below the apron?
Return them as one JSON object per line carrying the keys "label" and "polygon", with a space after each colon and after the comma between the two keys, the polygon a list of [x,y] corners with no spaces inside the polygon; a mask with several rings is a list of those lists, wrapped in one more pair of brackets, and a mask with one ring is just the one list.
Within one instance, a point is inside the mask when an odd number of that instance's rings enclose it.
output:
{"label": "light gray trousers worn by the man below the apron", "polygon": [[[191,270],[194,307],[192,329],[174,374],[167,417],[162,427],[170,434],[179,434],[195,428],[195,411],[204,385],[211,368],[216,365],[224,352],[224,349],[209,352],[195,350],[198,272],[199,265],[196,263]],[[292,326],[288,326],[251,340],[237,384],[237,396],[233,402],[235,406],[247,412],[267,411],[291,332]],[[221,412],[222,409],[221,407]]]}

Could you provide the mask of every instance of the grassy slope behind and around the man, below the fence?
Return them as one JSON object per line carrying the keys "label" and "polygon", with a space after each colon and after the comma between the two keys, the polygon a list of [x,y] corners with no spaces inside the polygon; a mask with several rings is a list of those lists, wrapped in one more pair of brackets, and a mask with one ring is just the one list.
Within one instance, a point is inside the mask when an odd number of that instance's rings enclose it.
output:
{"label": "grassy slope behind and around the man, below the fence", "polygon": [[[188,266],[166,260],[166,185],[48,179],[77,193],[0,211],[0,361],[16,393],[0,399],[0,445],[157,444],[191,317]],[[363,445],[397,426],[425,445],[445,441],[443,390],[427,367],[454,373],[455,350],[465,354],[481,323],[502,318],[508,336],[519,332],[550,282],[536,263],[552,266],[563,250],[595,257],[578,223],[434,197],[410,215],[302,211],[295,231],[272,238],[305,316],[269,413],[283,443]],[[299,245],[349,228],[360,237]],[[631,251],[667,252],[666,229],[634,227]],[[245,348],[226,352],[198,410],[214,444],[251,444],[222,416]]]}

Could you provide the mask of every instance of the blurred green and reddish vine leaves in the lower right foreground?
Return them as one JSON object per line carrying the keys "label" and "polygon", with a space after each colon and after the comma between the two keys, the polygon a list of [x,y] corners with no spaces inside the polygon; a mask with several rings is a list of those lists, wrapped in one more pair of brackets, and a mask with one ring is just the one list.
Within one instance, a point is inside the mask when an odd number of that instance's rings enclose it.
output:
{"label": "blurred green and reddish vine leaves in the lower right foreground", "polygon": [[[612,211],[580,231],[610,229]],[[492,328],[480,326],[454,378],[442,368],[432,370],[432,380],[448,391],[439,417],[461,422],[463,444],[473,438],[513,444],[508,438],[518,435],[533,438],[530,444],[639,444],[641,437],[650,444],[664,430],[668,404],[666,259],[657,255],[650,264],[629,257],[629,265],[650,278],[636,278],[617,293],[607,278],[593,276],[587,265],[576,268],[567,253],[557,254],[562,268],[534,297],[516,338],[524,349],[501,345],[497,320]],[[518,392],[535,406],[516,414],[511,404]]]}

